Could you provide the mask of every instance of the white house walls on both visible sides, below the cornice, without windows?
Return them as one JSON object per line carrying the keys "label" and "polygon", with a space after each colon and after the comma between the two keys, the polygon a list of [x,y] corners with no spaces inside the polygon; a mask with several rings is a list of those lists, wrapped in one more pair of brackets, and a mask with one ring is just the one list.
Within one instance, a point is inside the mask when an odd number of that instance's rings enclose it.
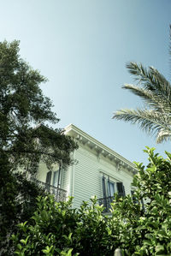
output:
{"label": "white house walls on both visible sides, below the cornice, without windows", "polygon": [[[102,154],[79,142],[79,149],[72,155],[78,164],[62,170],[61,188],[67,191],[68,195],[74,196],[74,208],[79,207],[83,200],[89,201],[96,195],[98,199],[103,198],[102,177],[109,178],[111,182],[122,182],[126,194],[131,193],[133,173],[123,168],[118,169],[114,160],[104,157]],[[58,170],[54,166],[53,170]],[[45,182],[49,170],[44,163],[39,164],[38,180]],[[53,174],[52,174],[53,179]],[[107,195],[108,196],[108,195]]]}

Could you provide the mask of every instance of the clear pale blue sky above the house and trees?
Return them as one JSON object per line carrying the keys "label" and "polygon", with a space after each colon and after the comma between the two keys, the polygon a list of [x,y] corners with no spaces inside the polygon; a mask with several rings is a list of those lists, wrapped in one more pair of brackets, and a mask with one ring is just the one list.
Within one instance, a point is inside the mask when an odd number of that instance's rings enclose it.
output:
{"label": "clear pale blue sky above the house and trees", "polygon": [[115,110],[143,106],[121,87],[133,84],[126,63],[153,66],[170,80],[169,0],[1,0],[0,41],[20,40],[21,57],[48,78],[41,88],[61,121],[73,123],[131,162],[143,150],[164,156],[138,126],[112,119]]}

